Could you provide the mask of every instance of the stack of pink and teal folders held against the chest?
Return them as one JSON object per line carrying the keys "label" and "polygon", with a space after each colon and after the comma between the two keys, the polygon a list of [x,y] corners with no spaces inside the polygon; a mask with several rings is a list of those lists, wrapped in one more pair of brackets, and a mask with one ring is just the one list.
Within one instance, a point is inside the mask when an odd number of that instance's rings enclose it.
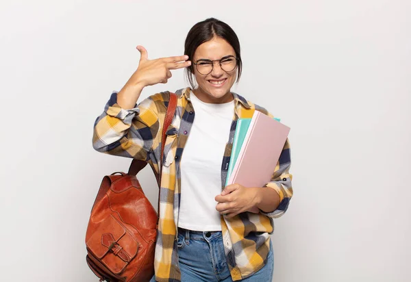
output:
{"label": "stack of pink and teal folders held against the chest", "polygon": [[271,181],[290,132],[279,121],[258,111],[238,119],[226,185],[263,187]]}

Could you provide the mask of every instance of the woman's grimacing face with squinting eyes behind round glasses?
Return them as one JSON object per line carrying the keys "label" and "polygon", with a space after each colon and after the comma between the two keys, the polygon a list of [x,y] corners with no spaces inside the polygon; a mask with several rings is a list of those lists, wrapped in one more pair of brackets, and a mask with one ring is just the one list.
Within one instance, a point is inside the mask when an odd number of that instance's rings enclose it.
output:
{"label": "woman's grimacing face with squinting eyes behind round glasses", "polygon": [[[234,57],[227,57],[227,56]],[[212,68],[212,72],[206,75],[199,73],[198,70],[206,68],[206,64],[203,60],[220,60],[223,57],[227,57],[226,60],[223,60],[223,68],[227,71],[224,71],[219,62],[215,61]],[[234,52],[233,47],[225,41],[223,38],[214,37],[212,40],[204,42],[194,53],[192,62],[197,63],[193,65],[194,75],[199,85],[199,88],[195,89],[194,92],[196,96],[203,102],[206,103],[227,103],[232,101],[233,97],[230,92],[234,82],[237,77],[237,67],[232,71],[229,71],[229,64],[236,64],[236,53]],[[229,60],[232,60],[231,62]],[[208,63],[208,66],[210,64]],[[207,71],[201,71],[202,73],[207,73]]]}

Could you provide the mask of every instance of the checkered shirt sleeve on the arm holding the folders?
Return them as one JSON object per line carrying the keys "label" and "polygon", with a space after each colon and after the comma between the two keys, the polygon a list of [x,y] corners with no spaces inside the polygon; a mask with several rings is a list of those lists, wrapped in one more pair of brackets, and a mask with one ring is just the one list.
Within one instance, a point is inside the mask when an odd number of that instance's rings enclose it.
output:
{"label": "checkered shirt sleeve on the arm holding the folders", "polygon": [[292,197],[292,175],[290,174],[290,166],[290,143],[287,139],[282,153],[279,156],[277,166],[275,166],[275,171],[271,177],[271,181],[265,185],[265,187],[273,188],[279,194],[279,206],[275,209],[275,211],[268,213],[260,211],[262,214],[265,214],[270,218],[279,218],[288,209],[288,205]]}

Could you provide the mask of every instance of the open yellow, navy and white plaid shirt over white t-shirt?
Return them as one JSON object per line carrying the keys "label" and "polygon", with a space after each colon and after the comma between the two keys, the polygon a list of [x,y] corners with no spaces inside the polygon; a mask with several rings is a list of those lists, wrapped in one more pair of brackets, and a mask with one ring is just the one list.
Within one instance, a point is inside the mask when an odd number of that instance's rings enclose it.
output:
{"label": "open yellow, navy and white plaid shirt over white t-shirt", "polygon": [[[166,131],[162,177],[160,184],[160,219],[155,246],[156,281],[181,281],[177,254],[177,222],[180,201],[180,159],[187,142],[195,111],[190,102],[190,88],[178,90],[177,110]],[[132,110],[124,110],[116,103],[114,92],[105,110],[95,122],[93,147],[110,155],[143,159],[155,173],[159,173],[162,125],[169,104],[169,92],[154,94]],[[225,187],[227,168],[232,151],[238,118],[251,118],[255,110],[269,114],[264,108],[246,101],[233,93],[235,114],[229,140],[222,156],[221,188]],[[292,196],[290,147],[284,145],[271,182],[265,186],[278,192],[279,207],[272,212],[252,214],[245,212],[233,218],[221,216],[221,228],[227,264],[232,279],[238,281],[251,276],[265,264],[269,253],[273,218],[282,216]]]}

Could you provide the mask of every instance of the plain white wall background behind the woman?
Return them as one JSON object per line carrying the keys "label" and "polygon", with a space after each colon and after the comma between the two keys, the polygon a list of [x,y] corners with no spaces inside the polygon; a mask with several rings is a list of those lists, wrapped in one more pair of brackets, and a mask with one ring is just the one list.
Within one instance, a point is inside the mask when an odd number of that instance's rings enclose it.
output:
{"label": "plain white wall background behind the woman", "polygon": [[[214,16],[240,38],[233,90],[290,126],[293,187],[274,281],[411,281],[411,2],[1,1],[2,281],[97,281],[84,235],[103,175],[92,149],[112,90],[182,55]],[[183,71],[142,98],[185,87]],[[150,168],[139,176],[150,200]]]}

